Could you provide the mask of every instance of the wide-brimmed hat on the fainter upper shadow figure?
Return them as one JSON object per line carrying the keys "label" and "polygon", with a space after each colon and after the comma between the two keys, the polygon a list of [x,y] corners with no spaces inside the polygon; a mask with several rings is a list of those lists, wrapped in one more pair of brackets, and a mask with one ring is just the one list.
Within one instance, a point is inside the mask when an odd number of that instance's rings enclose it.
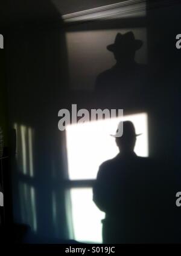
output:
{"label": "wide-brimmed hat on the fainter upper shadow figure", "polygon": [[135,39],[135,35],[131,31],[125,34],[117,33],[115,42],[107,45],[107,50],[115,52],[116,49],[127,48],[136,51],[142,47],[142,44],[143,42],[141,40]]}

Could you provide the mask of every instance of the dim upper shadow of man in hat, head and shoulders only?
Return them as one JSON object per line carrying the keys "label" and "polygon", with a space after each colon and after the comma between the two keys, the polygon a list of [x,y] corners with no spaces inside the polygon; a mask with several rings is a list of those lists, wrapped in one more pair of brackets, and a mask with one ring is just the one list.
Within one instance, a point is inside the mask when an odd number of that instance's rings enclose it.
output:
{"label": "dim upper shadow of man in hat, head and shoulders only", "polygon": [[98,95],[119,95],[119,100],[124,103],[128,99],[126,96],[131,99],[132,95],[141,93],[147,78],[147,68],[144,64],[136,63],[135,53],[141,49],[142,44],[141,40],[135,39],[133,32],[128,32],[118,33],[115,42],[107,45],[107,50],[113,53],[116,64],[98,75],[95,84],[95,92]]}

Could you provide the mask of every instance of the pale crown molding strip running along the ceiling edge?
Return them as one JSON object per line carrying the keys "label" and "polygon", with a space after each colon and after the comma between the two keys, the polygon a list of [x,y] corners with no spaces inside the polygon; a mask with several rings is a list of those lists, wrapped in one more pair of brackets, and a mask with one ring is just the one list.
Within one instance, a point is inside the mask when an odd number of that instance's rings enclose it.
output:
{"label": "pale crown molding strip running along the ceiling edge", "polygon": [[[149,7],[147,6],[149,2]],[[148,9],[167,7],[174,4],[180,4],[180,0],[128,0],[116,4],[104,5],[81,12],[69,13],[63,15],[62,19],[66,23],[98,21],[104,19],[120,19],[127,17],[144,17]]]}

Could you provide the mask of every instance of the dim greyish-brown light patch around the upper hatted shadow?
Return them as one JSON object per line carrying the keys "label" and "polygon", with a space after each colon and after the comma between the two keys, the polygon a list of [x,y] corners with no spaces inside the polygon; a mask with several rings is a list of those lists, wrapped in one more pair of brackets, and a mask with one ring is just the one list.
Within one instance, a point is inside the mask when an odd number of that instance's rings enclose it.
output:
{"label": "dim greyish-brown light patch around the upper hatted shadow", "polygon": [[115,41],[117,33],[124,34],[129,31],[134,33],[136,39],[144,42],[141,49],[136,51],[135,61],[147,64],[147,28],[145,27],[66,32],[71,89],[84,90],[86,85],[86,90],[94,90],[97,75],[115,65],[115,58],[106,49],[107,45]]}

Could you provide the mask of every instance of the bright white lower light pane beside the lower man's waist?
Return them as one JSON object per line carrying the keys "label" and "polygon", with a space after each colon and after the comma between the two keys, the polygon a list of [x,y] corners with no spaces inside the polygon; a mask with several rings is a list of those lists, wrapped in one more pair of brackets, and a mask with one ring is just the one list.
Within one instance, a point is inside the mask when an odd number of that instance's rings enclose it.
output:
{"label": "bright white lower light pane beside the lower man's waist", "polygon": [[71,189],[72,222],[77,241],[102,242],[101,220],[104,212],[92,201],[92,189]]}

